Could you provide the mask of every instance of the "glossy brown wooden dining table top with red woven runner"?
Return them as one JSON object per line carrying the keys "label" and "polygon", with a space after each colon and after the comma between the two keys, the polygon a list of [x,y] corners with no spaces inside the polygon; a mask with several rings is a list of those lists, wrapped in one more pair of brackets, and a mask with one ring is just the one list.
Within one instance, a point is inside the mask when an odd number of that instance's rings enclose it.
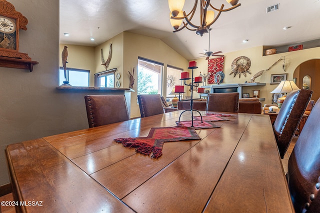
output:
{"label": "glossy brown wooden dining table top with red woven runner", "polygon": [[16,209],[294,212],[268,115],[229,113],[228,120],[214,121],[220,127],[196,129],[201,139],[164,142],[157,159],[113,140],[175,126],[180,113],[7,145]]}

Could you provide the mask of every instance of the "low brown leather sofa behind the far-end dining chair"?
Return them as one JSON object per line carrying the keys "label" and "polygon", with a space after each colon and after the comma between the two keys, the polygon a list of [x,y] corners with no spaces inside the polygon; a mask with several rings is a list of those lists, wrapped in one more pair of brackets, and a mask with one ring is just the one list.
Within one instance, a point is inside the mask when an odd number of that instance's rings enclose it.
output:
{"label": "low brown leather sofa behind the far-end dining chair", "polygon": [[[190,101],[178,101],[178,109],[190,109]],[[193,100],[193,109],[205,110],[206,99]],[[262,104],[258,98],[239,98],[239,112],[261,114]]]}

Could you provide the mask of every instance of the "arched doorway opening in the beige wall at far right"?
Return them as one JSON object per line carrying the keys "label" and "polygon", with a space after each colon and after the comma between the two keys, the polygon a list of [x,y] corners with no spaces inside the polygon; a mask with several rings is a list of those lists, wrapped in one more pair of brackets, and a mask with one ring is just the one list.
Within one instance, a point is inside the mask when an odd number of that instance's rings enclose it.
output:
{"label": "arched doorway opening in the beige wall at far right", "polygon": [[293,72],[293,79],[299,88],[308,87],[313,91],[311,99],[316,101],[320,97],[320,59],[302,62]]}

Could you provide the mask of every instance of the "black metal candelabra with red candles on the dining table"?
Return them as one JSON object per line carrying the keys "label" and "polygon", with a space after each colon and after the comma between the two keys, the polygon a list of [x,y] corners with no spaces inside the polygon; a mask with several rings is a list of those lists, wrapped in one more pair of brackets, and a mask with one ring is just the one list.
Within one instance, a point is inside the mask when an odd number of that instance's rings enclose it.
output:
{"label": "black metal candelabra with red candles on the dining table", "polygon": [[[201,113],[198,110],[193,109],[193,100],[201,99],[201,93],[203,92],[203,91],[199,92],[200,93],[200,97],[199,98],[193,98],[193,87],[198,87],[199,83],[202,82],[201,77],[196,77],[195,79],[193,78],[193,69],[195,69],[195,68],[197,68],[197,66],[189,66],[188,67],[188,69],[192,69],[191,78],[189,78],[188,76],[183,76],[184,78],[180,78],[180,80],[183,80],[184,85],[187,85],[187,86],[191,87],[191,98],[188,98],[188,99],[181,99],[180,98],[180,93],[184,93],[183,86],[182,86],[182,89],[180,91],[175,91],[175,93],[179,93],[179,101],[188,101],[188,100],[190,100],[190,109],[183,110],[180,113],[178,121],[180,122],[180,118],[181,118],[181,115],[183,114],[183,112],[191,111],[191,127],[193,127],[193,111],[197,111],[200,114],[201,122],[203,122]],[[186,83],[185,81],[189,80],[189,79],[191,79],[191,83]],[[175,88],[177,88],[177,87],[175,87]],[[204,90],[204,88],[203,88],[203,90]]]}

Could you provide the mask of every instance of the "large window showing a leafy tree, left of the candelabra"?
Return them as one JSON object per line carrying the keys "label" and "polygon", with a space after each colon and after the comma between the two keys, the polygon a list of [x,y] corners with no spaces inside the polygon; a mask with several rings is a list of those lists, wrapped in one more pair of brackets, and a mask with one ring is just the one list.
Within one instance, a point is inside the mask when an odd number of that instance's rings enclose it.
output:
{"label": "large window showing a leafy tree, left of the candelabra", "polygon": [[137,94],[162,94],[163,63],[138,58]]}

